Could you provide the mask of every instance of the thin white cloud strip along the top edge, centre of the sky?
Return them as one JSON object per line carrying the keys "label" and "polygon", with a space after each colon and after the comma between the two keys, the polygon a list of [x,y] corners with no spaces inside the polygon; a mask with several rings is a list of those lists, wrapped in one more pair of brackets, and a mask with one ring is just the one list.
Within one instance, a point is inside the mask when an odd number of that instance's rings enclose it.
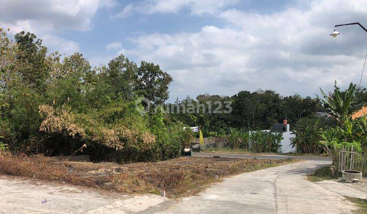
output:
{"label": "thin white cloud strip along the top edge, centre of the sky", "polygon": [[216,14],[238,2],[239,0],[145,0],[128,4],[114,17],[122,18],[133,13],[178,13],[182,9],[189,9],[192,15]]}

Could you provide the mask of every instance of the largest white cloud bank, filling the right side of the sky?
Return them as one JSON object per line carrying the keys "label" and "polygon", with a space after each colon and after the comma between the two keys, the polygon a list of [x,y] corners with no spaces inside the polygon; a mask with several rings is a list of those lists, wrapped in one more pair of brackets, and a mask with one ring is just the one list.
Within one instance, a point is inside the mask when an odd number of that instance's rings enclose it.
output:
{"label": "largest white cloud bank, filling the right side of the sky", "polygon": [[258,88],[312,96],[319,87],[330,90],[335,79],[342,86],[358,83],[364,32],[348,26],[336,39],[328,35],[334,24],[367,23],[364,3],[317,0],[272,14],[226,10],[218,15],[227,23],[223,28],[144,35],[131,40],[135,48],[120,52],[159,64],[174,77],[171,94],[181,98]]}

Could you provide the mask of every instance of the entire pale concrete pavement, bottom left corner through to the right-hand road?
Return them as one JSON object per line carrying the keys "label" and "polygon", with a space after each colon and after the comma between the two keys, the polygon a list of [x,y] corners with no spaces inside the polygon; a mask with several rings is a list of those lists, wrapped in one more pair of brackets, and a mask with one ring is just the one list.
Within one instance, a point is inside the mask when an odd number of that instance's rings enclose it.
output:
{"label": "entire pale concrete pavement, bottom left corner through to the right-hand road", "polygon": [[330,163],[303,161],[243,173],[179,201],[0,176],[0,213],[349,213],[356,207],[343,196],[304,179]]}

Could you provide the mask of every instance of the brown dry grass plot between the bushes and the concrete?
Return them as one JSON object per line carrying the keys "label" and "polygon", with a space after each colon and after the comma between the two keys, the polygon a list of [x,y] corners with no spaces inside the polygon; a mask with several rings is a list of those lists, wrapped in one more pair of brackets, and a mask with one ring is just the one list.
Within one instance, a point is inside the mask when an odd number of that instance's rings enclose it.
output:
{"label": "brown dry grass plot between the bushes and the concrete", "polygon": [[0,172],[57,182],[68,182],[124,194],[159,194],[170,198],[194,195],[207,184],[243,172],[279,166],[294,160],[179,157],[158,163],[91,163],[61,161],[42,155],[0,153]]}

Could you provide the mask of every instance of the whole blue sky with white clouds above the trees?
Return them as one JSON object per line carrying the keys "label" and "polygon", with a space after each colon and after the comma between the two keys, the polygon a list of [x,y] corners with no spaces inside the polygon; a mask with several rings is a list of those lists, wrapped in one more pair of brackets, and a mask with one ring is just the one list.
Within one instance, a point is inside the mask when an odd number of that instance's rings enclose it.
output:
{"label": "whole blue sky with white clouds above the trees", "polygon": [[[365,0],[0,0],[0,27],[29,31],[49,51],[92,66],[120,54],[159,64],[168,101],[271,89],[315,97],[359,84],[367,51]],[[362,86],[367,86],[367,72]]]}

